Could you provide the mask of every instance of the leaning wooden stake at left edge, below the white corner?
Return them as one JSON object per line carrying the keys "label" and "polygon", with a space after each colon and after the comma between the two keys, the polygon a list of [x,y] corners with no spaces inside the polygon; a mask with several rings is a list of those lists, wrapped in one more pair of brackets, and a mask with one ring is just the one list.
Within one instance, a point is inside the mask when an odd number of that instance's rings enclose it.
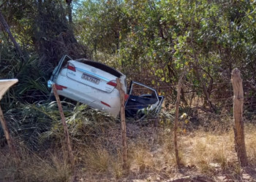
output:
{"label": "leaning wooden stake at left edge, below the white corner", "polygon": [[8,131],[8,128],[7,128],[7,122],[4,119],[4,114],[3,114],[3,111],[1,111],[1,107],[0,107],[0,120],[1,120],[1,126],[3,127],[3,130],[4,130],[5,138],[7,139],[7,144],[9,146],[9,149],[10,149],[12,155],[17,157],[16,156],[16,149],[15,149],[15,146],[12,142],[12,137],[9,134],[9,131]]}

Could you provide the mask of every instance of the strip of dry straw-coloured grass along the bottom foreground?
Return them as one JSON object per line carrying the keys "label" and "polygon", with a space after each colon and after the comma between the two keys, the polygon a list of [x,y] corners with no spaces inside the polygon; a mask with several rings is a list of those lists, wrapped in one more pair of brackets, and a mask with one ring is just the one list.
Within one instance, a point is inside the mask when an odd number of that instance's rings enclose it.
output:
{"label": "strip of dry straw-coloured grass along the bottom foreground", "polygon": [[[255,125],[247,124],[245,132],[249,165],[253,168],[256,166]],[[111,140],[118,141],[121,138],[113,138],[112,135]],[[108,136],[105,136],[104,141],[108,141]],[[225,174],[236,181],[241,180],[245,173],[238,165],[232,129],[225,132],[216,129],[214,132],[180,132],[178,147],[182,173],[175,167],[171,130],[168,127],[141,127],[136,138],[128,138],[127,171],[121,167],[120,143],[116,142],[110,147],[110,144],[102,143],[100,138],[93,144],[75,149],[75,175],[80,181],[162,181],[198,174],[217,179],[219,175]],[[43,157],[39,157],[23,150],[20,166],[15,167],[12,157],[6,151],[1,151],[0,181],[71,181],[74,173],[63,157],[65,155],[61,152],[45,152]]]}

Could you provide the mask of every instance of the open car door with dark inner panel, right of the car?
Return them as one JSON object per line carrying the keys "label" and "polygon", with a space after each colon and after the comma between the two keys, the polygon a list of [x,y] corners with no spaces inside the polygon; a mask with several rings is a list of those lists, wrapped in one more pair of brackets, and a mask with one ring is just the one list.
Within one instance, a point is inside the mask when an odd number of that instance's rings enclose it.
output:
{"label": "open car door with dark inner panel, right of the car", "polygon": [[156,116],[161,110],[164,96],[159,96],[157,91],[139,82],[131,82],[129,87],[129,98],[125,104],[127,117],[141,119],[151,114]]}

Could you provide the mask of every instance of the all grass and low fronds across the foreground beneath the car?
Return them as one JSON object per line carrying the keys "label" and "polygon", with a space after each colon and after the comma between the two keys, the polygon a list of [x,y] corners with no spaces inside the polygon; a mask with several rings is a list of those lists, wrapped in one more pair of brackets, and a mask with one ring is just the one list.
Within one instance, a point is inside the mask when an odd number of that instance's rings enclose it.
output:
{"label": "all grass and low fronds across the foreground beneath the car", "polygon": [[[21,162],[16,167],[15,161],[7,154],[7,149],[1,148],[0,181],[72,181],[73,178],[84,181],[132,181],[138,178],[164,181],[191,174],[214,178],[225,174],[234,181],[242,179],[244,170],[238,164],[233,129],[228,123],[225,124],[228,126],[226,128],[214,127],[213,130],[186,126],[187,132],[181,130],[178,133],[182,173],[175,166],[171,124],[160,124],[159,127],[148,124],[142,127],[129,123],[129,168],[124,170],[120,123],[84,105],[63,103],[63,107],[75,154],[75,172],[68,164],[67,149],[63,145],[64,132],[56,103],[40,103],[24,107],[23,115],[18,117],[25,116],[23,120],[27,119],[26,122],[33,119],[43,122],[49,119],[51,124],[48,130],[34,135],[40,141],[37,143],[39,150],[31,149],[24,140],[18,141]],[[181,124],[181,127],[184,125]],[[17,131],[18,137],[25,131],[30,130]],[[246,149],[249,165],[252,167],[256,166],[255,131],[253,124],[246,124]]]}

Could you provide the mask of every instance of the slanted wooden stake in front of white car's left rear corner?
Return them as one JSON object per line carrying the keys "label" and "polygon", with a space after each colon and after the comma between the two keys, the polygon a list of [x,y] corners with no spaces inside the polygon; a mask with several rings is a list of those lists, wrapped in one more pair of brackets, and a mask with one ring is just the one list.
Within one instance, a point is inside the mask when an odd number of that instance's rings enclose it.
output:
{"label": "slanted wooden stake in front of white car's left rear corner", "polygon": [[70,140],[69,140],[69,131],[67,129],[67,123],[66,123],[66,119],[65,119],[65,116],[64,116],[64,113],[63,113],[62,106],[61,106],[61,101],[59,100],[59,95],[57,93],[57,89],[56,89],[55,84],[53,84],[52,87],[53,87],[53,93],[55,95],[55,98],[56,98],[56,101],[57,101],[57,104],[58,104],[59,114],[61,115],[61,122],[62,122],[63,127],[64,127],[64,133],[65,133],[65,138],[66,138],[66,143],[67,143],[67,150],[69,152],[69,161],[70,161],[71,165],[74,166],[75,165],[75,159],[74,159],[73,152],[72,152],[72,146],[71,146],[71,143],[70,143]]}

